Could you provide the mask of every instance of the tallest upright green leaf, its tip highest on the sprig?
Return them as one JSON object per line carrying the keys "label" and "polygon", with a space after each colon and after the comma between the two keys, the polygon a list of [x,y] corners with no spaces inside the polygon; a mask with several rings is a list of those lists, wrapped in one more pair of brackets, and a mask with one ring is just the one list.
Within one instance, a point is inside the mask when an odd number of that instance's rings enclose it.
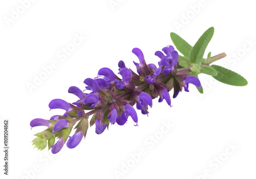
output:
{"label": "tallest upright green leaf, its tip highest on the sprig", "polygon": [[189,60],[191,63],[199,64],[202,61],[205,49],[213,35],[214,27],[211,27],[198,39],[195,46],[189,52]]}

